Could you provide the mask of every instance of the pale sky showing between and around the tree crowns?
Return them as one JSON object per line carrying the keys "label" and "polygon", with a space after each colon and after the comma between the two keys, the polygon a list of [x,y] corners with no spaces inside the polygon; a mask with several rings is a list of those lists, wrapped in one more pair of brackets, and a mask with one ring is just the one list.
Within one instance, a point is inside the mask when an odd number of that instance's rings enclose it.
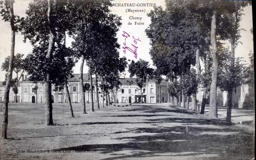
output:
{"label": "pale sky showing between and around the tree crowns", "polygon": [[[16,0],[14,3],[14,14],[19,15],[20,17],[26,16],[26,9],[28,7],[29,2],[33,0]],[[151,48],[149,38],[147,38],[145,29],[148,28],[150,22],[150,18],[147,16],[147,13],[150,10],[153,10],[153,6],[162,6],[165,9],[164,0],[129,0],[129,3],[135,3],[135,7],[122,7],[118,6],[124,3],[127,3],[126,0],[114,0],[112,1],[115,5],[110,7],[113,14],[117,14],[118,16],[122,17],[122,26],[120,30],[117,32],[118,43],[121,45],[119,49],[120,57],[125,56],[127,59],[137,61],[140,58],[146,61],[149,61],[151,67],[153,66],[153,61],[150,59],[149,50]],[[150,3],[150,6],[141,7],[141,3]],[[143,12],[128,12],[129,10],[144,10]],[[239,39],[242,44],[238,44],[235,50],[235,57],[244,57],[244,60],[249,63],[248,54],[250,51],[253,51],[253,41],[252,41],[252,34],[250,33],[250,29],[252,28],[252,7],[248,6],[244,8],[244,15],[243,20],[241,21],[240,27],[244,30],[241,30],[241,38]],[[0,17],[1,18],[1,17]],[[2,19],[2,18],[1,18]],[[135,25],[136,22],[136,25]],[[129,25],[128,23],[132,23]],[[125,33],[125,34],[124,34]],[[122,35],[129,34],[126,40]],[[72,38],[67,38],[67,46],[71,46],[71,42],[73,41]],[[126,43],[126,46],[134,49],[133,45],[137,47],[137,57],[135,58],[134,53],[126,50],[124,53],[124,49],[122,48]],[[230,48],[230,44],[226,42],[226,46]],[[11,26],[9,22],[4,22],[0,20],[0,65],[4,62],[5,58],[10,55],[11,52]],[[26,43],[23,42],[23,36],[18,32],[15,36],[15,53],[21,53],[25,56],[32,52],[32,46],[27,41]],[[25,57],[24,56],[24,57]],[[73,68],[74,73],[79,74],[81,61],[79,60],[78,63]],[[128,61],[128,64],[130,62]],[[201,66],[203,63],[201,62]],[[84,66],[84,73],[88,72],[88,67]],[[126,70],[126,77],[129,77],[129,73]],[[15,75],[13,74],[13,78]],[[0,81],[4,81],[5,79],[5,72],[0,71]]]}

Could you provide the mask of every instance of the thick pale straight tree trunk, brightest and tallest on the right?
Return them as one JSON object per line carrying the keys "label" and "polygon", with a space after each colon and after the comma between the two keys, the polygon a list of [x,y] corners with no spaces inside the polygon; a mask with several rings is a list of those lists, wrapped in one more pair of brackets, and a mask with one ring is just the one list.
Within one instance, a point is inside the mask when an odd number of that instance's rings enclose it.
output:
{"label": "thick pale straight tree trunk, brightest and tallest on the right", "polygon": [[216,42],[216,13],[213,13],[211,20],[211,45],[213,49],[213,66],[211,67],[211,90],[209,117],[218,119],[217,115],[217,76],[218,76],[218,51]]}

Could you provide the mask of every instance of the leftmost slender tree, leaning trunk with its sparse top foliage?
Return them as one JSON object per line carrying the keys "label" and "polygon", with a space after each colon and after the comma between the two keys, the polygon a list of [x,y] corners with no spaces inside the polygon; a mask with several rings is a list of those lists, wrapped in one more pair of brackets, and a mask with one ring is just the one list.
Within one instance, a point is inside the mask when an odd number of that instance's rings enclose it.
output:
{"label": "leftmost slender tree, leaning trunk with its sparse top foliage", "polygon": [[9,93],[11,88],[11,81],[12,81],[12,72],[13,72],[13,60],[14,60],[14,46],[15,46],[15,32],[18,32],[19,23],[22,19],[19,16],[14,15],[13,13],[13,3],[14,0],[5,0],[0,1],[0,14],[3,17],[5,22],[10,22],[11,30],[12,30],[12,37],[11,37],[11,54],[8,66],[8,73],[6,78],[6,88],[5,88],[5,95],[4,95],[4,105],[3,105],[3,123],[2,123],[2,133],[1,139],[7,139],[7,126],[8,126],[8,102],[9,102]]}

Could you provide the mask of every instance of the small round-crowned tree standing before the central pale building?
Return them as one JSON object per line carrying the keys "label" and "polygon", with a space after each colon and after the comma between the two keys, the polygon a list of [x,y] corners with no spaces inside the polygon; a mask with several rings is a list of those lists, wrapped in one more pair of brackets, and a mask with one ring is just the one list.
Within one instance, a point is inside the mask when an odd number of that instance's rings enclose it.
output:
{"label": "small round-crowned tree standing before the central pale building", "polygon": [[144,87],[144,83],[146,83],[146,80],[153,79],[154,75],[154,69],[150,68],[148,61],[145,60],[138,60],[136,63],[132,60],[132,63],[129,65],[129,73],[130,77],[136,77],[137,86],[140,88],[141,92],[141,103],[142,103],[142,88]]}

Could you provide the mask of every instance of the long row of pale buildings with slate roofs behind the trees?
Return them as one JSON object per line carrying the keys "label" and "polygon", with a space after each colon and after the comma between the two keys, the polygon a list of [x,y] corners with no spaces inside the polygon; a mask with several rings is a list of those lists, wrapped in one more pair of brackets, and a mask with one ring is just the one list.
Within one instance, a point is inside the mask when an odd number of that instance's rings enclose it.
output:
{"label": "long row of pale buildings with slate roofs behind the trees", "polygon": [[[26,78],[26,76],[25,76]],[[80,74],[72,74],[68,78],[68,90],[72,103],[81,103],[81,87],[80,87]],[[121,82],[120,88],[115,89],[114,93],[110,92],[110,101],[114,102],[116,99],[119,103],[140,103],[141,93],[140,88],[136,84],[135,78],[119,79]],[[142,88],[142,103],[159,103],[159,85],[156,84],[156,80],[146,80],[144,87]],[[98,84],[101,84],[102,78],[98,78]],[[89,83],[89,75],[83,74],[83,83]],[[2,84],[2,83],[0,83]],[[95,78],[93,78],[93,84],[95,84]],[[45,103],[45,84],[38,83],[37,93],[35,92],[36,84],[29,78],[21,79],[18,83],[17,101],[20,103]],[[0,86],[2,90],[0,97],[4,98],[5,86]],[[1,98],[0,98],[1,100]],[[15,102],[15,94],[10,91],[10,102]],[[89,103],[89,93],[85,93],[86,103]],[[106,97],[105,97],[106,100]],[[93,90],[93,101],[96,102],[96,93]],[[162,82],[160,85],[160,101],[168,101],[168,87],[167,82]],[[99,88],[99,102],[103,103],[103,94],[101,88]],[[54,91],[52,86],[52,103],[67,103],[66,89],[59,89]]]}

